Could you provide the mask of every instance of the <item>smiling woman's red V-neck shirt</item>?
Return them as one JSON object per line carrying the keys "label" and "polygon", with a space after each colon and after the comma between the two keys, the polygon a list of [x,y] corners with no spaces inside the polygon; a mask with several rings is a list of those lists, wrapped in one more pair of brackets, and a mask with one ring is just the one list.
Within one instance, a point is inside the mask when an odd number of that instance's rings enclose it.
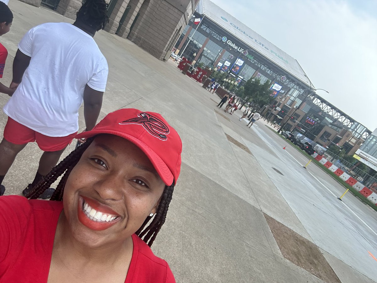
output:
{"label": "smiling woman's red V-neck shirt", "polygon": [[[47,282],[61,201],[0,197],[0,282]],[[125,283],[175,283],[166,261],[137,235]]]}

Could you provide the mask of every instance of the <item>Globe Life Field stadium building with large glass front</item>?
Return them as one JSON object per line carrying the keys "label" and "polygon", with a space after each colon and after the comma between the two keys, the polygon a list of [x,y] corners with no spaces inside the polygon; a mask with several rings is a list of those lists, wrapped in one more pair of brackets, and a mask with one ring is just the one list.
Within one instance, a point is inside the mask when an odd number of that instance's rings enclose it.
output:
{"label": "Globe Life Field stadium building with large glass front", "polygon": [[199,2],[173,52],[227,72],[239,85],[254,77],[269,80],[275,101],[261,109],[264,117],[323,147],[337,144],[352,154],[371,133],[317,95],[296,59],[209,0]]}

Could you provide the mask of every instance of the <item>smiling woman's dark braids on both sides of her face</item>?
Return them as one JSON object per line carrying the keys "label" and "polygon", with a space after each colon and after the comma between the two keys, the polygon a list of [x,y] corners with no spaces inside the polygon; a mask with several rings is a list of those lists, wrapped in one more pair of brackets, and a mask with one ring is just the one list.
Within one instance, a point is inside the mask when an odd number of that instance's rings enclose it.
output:
{"label": "smiling woman's dark braids on both sides of her face", "polygon": [[[58,183],[55,192],[52,194],[50,200],[55,201],[62,201],[63,194],[64,194],[64,187],[66,185],[66,181],[68,179],[69,173],[78,163],[83,155],[84,151],[89,147],[89,145],[94,140],[93,138],[88,138],[87,141],[79,146],[77,149],[72,151],[66,158],[64,158],[57,166],[52,168],[51,172],[47,174],[30,192],[26,195],[29,199],[38,198],[41,194],[43,194],[46,189],[50,188],[50,186],[61,176],[60,182]],[[174,181],[171,186],[165,186],[164,191],[161,195],[161,200],[157,208],[157,212],[154,216],[148,216],[144,221],[143,225],[136,231],[136,235],[138,235],[143,241],[148,245],[152,246],[153,241],[155,240],[158,232],[160,231],[162,225],[165,223],[166,214],[169,209],[170,201],[172,200],[172,195],[174,191]],[[152,219],[153,218],[153,219]],[[152,221],[151,221],[152,220]]]}

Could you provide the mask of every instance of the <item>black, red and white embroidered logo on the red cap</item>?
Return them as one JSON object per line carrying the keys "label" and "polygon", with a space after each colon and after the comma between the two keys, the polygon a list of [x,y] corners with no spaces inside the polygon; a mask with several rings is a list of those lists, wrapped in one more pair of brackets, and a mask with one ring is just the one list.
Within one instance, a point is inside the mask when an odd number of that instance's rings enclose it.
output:
{"label": "black, red and white embroidered logo on the red cap", "polygon": [[149,134],[164,141],[167,140],[167,135],[170,132],[169,128],[162,120],[145,112],[139,113],[136,118],[127,119],[119,123],[119,125],[126,124],[142,125]]}

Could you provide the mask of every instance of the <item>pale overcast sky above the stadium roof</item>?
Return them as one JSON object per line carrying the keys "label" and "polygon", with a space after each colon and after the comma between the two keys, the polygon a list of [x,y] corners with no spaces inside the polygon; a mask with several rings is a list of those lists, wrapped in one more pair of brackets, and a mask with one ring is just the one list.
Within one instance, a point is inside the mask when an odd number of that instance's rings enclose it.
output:
{"label": "pale overcast sky above the stadium roof", "polygon": [[377,0],[211,0],[295,58],[317,94],[377,128]]}

